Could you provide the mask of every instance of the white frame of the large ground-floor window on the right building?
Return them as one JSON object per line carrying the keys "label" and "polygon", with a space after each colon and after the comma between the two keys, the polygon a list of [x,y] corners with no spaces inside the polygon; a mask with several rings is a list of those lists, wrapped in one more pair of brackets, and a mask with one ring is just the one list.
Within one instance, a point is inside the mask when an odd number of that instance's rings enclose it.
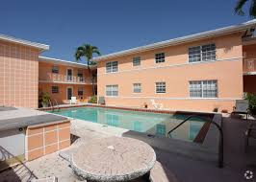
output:
{"label": "white frame of the large ground-floor window on the right building", "polygon": [[[209,81],[215,81],[215,84],[216,84],[216,89],[214,90],[216,92],[216,97],[206,97],[204,92],[205,91],[205,85],[208,85],[208,84],[205,84],[205,82],[209,82]],[[201,95],[200,97],[192,97],[191,96],[191,82],[200,82],[201,86],[200,86],[200,89],[201,89]],[[212,90],[213,91],[213,90]],[[189,94],[190,94],[190,98],[198,98],[198,99],[215,99],[215,98],[218,98],[218,80],[190,80],[189,81]]]}

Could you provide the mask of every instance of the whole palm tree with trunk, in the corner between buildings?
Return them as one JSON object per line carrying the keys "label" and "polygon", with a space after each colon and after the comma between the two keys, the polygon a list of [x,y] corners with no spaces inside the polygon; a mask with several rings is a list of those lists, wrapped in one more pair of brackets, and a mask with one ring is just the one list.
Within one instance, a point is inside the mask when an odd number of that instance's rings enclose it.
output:
{"label": "whole palm tree with trunk, in the corner between buildings", "polygon": [[90,66],[96,64],[96,62],[91,60],[93,55],[100,56],[100,52],[99,52],[98,48],[95,46],[92,46],[90,44],[84,44],[84,45],[76,48],[75,59],[81,60],[82,57],[85,57],[85,60],[87,61],[91,84],[92,84],[92,94],[94,96],[95,95],[95,87],[94,87],[94,79],[95,78],[92,77],[92,73],[90,70]]}

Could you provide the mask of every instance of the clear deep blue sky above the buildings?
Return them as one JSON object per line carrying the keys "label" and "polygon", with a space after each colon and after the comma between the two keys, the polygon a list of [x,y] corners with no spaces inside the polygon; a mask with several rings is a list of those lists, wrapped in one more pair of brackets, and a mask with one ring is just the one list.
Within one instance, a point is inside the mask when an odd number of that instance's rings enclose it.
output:
{"label": "clear deep blue sky above the buildings", "polygon": [[237,0],[3,0],[0,34],[50,45],[42,56],[74,60],[83,43],[102,55],[249,20]]}

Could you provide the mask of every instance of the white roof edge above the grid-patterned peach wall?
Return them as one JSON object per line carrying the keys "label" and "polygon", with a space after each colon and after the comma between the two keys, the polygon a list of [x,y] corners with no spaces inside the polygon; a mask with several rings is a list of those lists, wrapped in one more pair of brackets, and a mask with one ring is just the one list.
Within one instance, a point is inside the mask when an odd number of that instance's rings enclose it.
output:
{"label": "white roof edge above the grid-patterned peach wall", "polygon": [[47,51],[50,48],[50,46],[46,45],[46,44],[31,42],[31,41],[28,41],[28,40],[15,38],[13,36],[5,35],[5,34],[0,34],[0,40],[5,40],[5,41],[8,41],[8,42],[13,42],[13,43],[16,43],[16,44],[26,45],[26,46],[30,46],[30,47],[35,47],[35,48],[38,48],[41,51]]}

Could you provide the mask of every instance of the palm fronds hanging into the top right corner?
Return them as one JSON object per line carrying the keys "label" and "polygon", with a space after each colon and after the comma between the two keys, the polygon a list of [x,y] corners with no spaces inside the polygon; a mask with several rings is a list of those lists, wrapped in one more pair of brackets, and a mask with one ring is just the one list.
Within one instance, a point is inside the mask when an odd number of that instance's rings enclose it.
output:
{"label": "palm fronds hanging into the top right corner", "polygon": [[245,3],[250,1],[249,6],[249,15],[252,18],[256,17],[256,0],[238,0],[237,5],[235,7],[235,12],[239,15],[244,15],[243,7]]}

